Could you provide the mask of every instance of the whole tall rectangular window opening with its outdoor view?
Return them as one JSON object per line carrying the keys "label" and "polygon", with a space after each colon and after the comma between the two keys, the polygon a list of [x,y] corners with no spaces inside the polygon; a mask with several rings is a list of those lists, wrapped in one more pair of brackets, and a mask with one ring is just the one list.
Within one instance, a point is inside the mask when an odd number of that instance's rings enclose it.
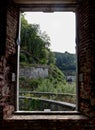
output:
{"label": "whole tall rectangular window opening with its outdoor view", "polygon": [[75,110],[75,13],[22,13],[19,50],[17,110]]}

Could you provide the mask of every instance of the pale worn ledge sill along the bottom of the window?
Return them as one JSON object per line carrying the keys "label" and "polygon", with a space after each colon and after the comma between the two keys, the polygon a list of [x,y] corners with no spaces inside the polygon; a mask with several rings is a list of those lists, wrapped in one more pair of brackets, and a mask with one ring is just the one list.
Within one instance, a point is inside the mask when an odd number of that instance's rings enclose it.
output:
{"label": "pale worn ledge sill along the bottom of the window", "polygon": [[6,120],[87,120],[88,118],[79,112],[16,112]]}

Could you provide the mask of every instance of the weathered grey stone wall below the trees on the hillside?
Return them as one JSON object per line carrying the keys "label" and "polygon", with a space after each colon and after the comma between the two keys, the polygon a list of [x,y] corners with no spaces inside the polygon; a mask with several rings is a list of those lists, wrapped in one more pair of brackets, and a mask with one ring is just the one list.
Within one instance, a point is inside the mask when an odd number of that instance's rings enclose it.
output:
{"label": "weathered grey stone wall below the trees on the hillside", "polygon": [[25,78],[46,78],[48,77],[48,67],[47,66],[34,66],[34,67],[22,67],[19,69],[20,77]]}

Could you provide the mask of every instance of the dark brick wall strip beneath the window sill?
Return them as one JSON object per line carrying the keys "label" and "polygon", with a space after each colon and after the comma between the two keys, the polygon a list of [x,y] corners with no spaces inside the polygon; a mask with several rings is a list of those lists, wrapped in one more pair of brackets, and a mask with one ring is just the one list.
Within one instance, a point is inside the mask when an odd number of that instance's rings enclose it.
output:
{"label": "dark brick wall strip beneath the window sill", "polygon": [[90,120],[62,120],[57,118],[9,120],[2,123],[2,128],[2,130],[95,130]]}

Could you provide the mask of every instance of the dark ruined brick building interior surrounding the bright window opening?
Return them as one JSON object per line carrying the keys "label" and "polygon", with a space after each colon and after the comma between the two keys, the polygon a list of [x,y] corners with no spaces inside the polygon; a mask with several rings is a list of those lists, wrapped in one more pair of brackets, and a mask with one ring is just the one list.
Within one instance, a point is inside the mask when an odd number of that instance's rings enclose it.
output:
{"label": "dark ruined brick building interior surrounding the bright window opening", "polygon": [[[75,112],[16,112],[20,11],[76,13],[78,72]],[[76,129],[95,130],[95,1],[0,0],[0,130]]]}

